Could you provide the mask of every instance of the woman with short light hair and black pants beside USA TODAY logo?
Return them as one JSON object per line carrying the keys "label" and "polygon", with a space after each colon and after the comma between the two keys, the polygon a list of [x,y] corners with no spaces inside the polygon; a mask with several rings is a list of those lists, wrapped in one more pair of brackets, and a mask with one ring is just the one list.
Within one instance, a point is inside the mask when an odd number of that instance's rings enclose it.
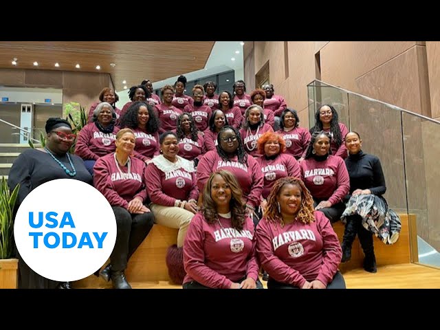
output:
{"label": "woman with short light hair and black pants beside USA TODAY logo", "polygon": [[115,289],[131,289],[124,270],[137,247],[153,228],[153,213],[146,201],[145,163],[131,157],[135,134],[121,129],[116,134],[114,153],[100,157],[94,167],[94,186],[109,201],[115,213],[118,235],[110,256],[110,264],[100,275]]}

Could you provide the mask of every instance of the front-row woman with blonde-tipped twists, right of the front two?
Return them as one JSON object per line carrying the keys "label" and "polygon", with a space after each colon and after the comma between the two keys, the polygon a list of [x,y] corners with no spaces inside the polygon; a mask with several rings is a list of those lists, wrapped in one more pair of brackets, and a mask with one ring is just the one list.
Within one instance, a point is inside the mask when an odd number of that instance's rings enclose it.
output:
{"label": "front-row woman with blonde-tipped twists, right of the front two", "polygon": [[269,274],[268,289],[345,289],[338,235],[313,203],[294,177],[278,179],[267,197],[256,252]]}

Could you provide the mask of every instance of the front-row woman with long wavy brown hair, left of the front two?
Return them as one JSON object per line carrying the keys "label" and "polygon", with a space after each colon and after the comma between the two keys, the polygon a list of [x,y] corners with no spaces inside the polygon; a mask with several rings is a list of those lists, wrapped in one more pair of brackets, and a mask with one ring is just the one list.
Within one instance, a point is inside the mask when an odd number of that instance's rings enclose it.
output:
{"label": "front-row woman with long wavy brown hair, left of the front two", "polygon": [[210,175],[184,243],[184,289],[263,289],[254,223],[228,170]]}

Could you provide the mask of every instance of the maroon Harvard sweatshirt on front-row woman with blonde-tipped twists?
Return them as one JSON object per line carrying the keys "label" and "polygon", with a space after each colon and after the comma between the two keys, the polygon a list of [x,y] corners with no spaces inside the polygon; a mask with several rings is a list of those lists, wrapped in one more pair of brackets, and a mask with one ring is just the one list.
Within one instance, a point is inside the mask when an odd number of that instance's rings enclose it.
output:
{"label": "maroon Harvard sweatshirt on front-row woman with blonde-tipped twists", "polygon": [[281,227],[264,217],[256,226],[256,252],[271,278],[302,287],[305,281],[333,281],[342,258],[338,235],[324,213],[315,211],[309,224],[294,221]]}

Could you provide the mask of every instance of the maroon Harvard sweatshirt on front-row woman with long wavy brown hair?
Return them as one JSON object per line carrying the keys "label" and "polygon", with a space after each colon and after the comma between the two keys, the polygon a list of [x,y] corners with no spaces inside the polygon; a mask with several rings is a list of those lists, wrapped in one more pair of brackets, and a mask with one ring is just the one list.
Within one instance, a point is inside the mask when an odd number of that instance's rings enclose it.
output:
{"label": "maroon Harvard sweatshirt on front-row woman with long wavy brown hair", "polygon": [[[220,225],[221,223],[221,225]],[[231,219],[219,217],[208,224],[201,213],[192,218],[184,243],[184,283],[197,281],[216,289],[229,289],[244,277],[259,276],[255,258],[254,223],[246,217],[243,230],[232,228]]]}

